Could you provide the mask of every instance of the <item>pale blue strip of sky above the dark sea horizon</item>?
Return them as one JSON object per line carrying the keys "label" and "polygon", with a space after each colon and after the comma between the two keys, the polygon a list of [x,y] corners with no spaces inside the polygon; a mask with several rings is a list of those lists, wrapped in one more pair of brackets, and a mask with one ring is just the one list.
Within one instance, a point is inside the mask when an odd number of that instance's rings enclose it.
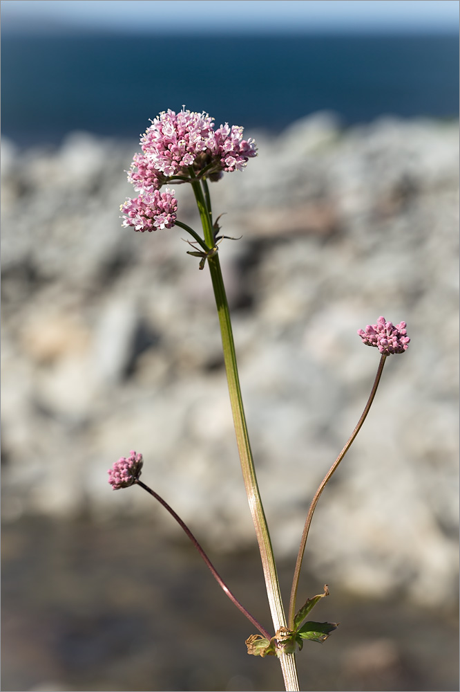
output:
{"label": "pale blue strip of sky above the dark sea horizon", "polygon": [[450,32],[457,0],[2,0],[2,30],[26,33]]}

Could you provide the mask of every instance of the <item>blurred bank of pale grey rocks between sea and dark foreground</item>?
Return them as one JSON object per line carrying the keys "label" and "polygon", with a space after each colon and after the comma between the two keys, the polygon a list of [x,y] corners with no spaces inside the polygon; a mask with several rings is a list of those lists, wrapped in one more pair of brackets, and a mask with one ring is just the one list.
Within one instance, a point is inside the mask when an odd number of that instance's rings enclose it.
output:
{"label": "blurred bank of pale grey rocks between sea and dark foreground", "polygon": [[[211,185],[242,392],[277,554],[354,428],[378,363],[356,329],[412,339],[318,504],[309,565],[361,594],[433,605],[457,592],[458,134],[327,113],[262,137]],[[146,482],[213,551],[252,545],[213,293],[182,230],[121,228],[136,143],[3,144],[3,516],[155,512],[107,469],[135,448]],[[190,190],[180,218],[198,228]]]}

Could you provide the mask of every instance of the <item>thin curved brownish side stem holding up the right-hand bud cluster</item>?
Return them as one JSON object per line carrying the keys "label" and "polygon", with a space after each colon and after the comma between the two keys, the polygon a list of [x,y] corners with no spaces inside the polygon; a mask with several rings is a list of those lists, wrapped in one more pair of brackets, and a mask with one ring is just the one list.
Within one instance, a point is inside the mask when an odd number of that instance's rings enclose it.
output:
{"label": "thin curved brownish side stem holding up the right-hand bud cluster", "polygon": [[381,356],[380,363],[378,364],[378,370],[377,374],[374,380],[374,384],[372,385],[372,390],[370,393],[369,399],[367,399],[367,403],[365,405],[365,408],[363,410],[363,413],[361,415],[361,418],[358,420],[358,423],[356,424],[356,428],[354,428],[352,434],[349,436],[347,439],[347,443],[345,444],[343,450],[341,453],[338,455],[336,458],[334,464],[332,464],[331,468],[329,468],[329,471],[327,471],[327,474],[323,478],[323,481],[321,482],[318,490],[315,493],[315,496],[312,500],[312,504],[310,504],[308,514],[307,514],[307,519],[305,520],[305,526],[303,527],[303,534],[302,538],[300,539],[300,547],[298,549],[298,556],[297,556],[297,562],[296,562],[296,569],[294,570],[294,579],[292,580],[292,588],[291,588],[291,598],[289,600],[289,628],[294,629],[294,617],[296,615],[296,599],[297,599],[297,589],[298,589],[298,580],[300,577],[300,568],[302,567],[302,561],[303,561],[303,555],[305,553],[305,545],[307,544],[307,537],[308,537],[308,532],[310,525],[312,523],[312,518],[313,518],[313,513],[315,511],[316,505],[318,504],[318,500],[320,498],[321,493],[325,489],[325,486],[331,480],[332,475],[336,471],[336,468],[338,467],[338,464],[341,463],[343,457],[345,457],[345,454],[349,450],[349,448],[352,446],[352,443],[358,435],[358,432],[361,430],[361,427],[363,426],[363,423],[366,419],[367,414],[369,413],[369,410],[372,406],[372,401],[374,401],[374,397],[378,388],[378,383],[380,382],[382,371],[383,371],[383,365],[385,365],[385,358],[387,356]]}

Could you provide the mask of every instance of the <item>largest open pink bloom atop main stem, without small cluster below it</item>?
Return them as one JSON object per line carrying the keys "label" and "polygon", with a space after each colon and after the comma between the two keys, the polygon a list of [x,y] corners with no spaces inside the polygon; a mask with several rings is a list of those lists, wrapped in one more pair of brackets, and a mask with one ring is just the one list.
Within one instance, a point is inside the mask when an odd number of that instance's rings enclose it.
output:
{"label": "largest open pink bloom atop main stem, without small cluster below it", "polygon": [[[135,154],[128,180],[135,189],[158,190],[171,176],[189,178],[204,168],[211,179],[223,171],[242,170],[249,158],[257,156],[253,139],[242,138],[242,127],[226,123],[214,131],[208,113],[163,111],[152,120],[140,140],[143,154]],[[137,171],[135,170],[137,168]]]}

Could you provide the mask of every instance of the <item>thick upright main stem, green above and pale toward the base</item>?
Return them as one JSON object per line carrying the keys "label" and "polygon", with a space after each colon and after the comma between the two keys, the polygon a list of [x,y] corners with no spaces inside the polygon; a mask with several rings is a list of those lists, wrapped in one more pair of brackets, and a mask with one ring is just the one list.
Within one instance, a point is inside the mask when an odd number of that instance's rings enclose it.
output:
{"label": "thick upright main stem, green above and pale toward the base", "polygon": [[[215,240],[213,234],[209,195],[206,195],[207,199],[204,198],[202,188],[200,187],[200,183],[198,183],[198,181],[194,181],[192,183],[192,187],[193,192],[195,192],[198,210],[200,211],[200,217],[204,230],[204,240],[209,248],[213,248],[215,245]],[[206,188],[204,189],[206,190]],[[251,446],[249,444],[245,410],[242,403],[240,379],[238,377],[238,366],[236,363],[235,344],[233,342],[233,331],[231,329],[229,304],[227,302],[227,295],[225,293],[224,281],[222,279],[222,271],[220,269],[218,255],[209,257],[208,264],[215,295],[215,304],[218,310],[225,370],[227,372],[231,411],[233,415],[233,424],[235,426],[238,452],[240,454],[242,475],[245,482],[245,489],[253,525],[256,529],[271,619],[273,620],[274,630],[277,632],[280,627],[286,626],[286,616],[285,610],[282,606],[280,585],[278,582],[278,574],[276,572],[273,548],[271,547],[267,519],[265,518],[265,512],[262,507],[262,500],[260,498],[256,478],[256,469],[254,468]],[[299,686],[296,670],[296,659],[294,654],[282,653],[279,660],[286,690],[293,692],[298,691]]]}

